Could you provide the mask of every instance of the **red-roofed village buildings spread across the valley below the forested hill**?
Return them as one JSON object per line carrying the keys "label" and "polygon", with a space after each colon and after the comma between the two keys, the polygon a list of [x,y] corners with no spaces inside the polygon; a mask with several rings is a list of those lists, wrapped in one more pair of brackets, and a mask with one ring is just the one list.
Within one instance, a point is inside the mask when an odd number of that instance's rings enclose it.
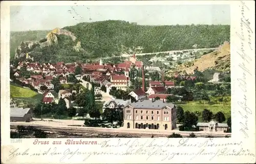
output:
{"label": "red-roofed village buildings spread across the valley below the forested hill", "polygon": [[[186,115],[188,123],[185,125],[184,117],[186,116],[184,115],[186,112],[177,108],[175,104],[189,101],[193,96],[184,89],[185,85],[175,85],[174,81],[165,79],[197,83],[199,78],[179,73],[173,74],[171,78],[166,77],[164,70],[155,66],[144,66],[141,61],[137,61],[135,54],[131,55],[129,60],[119,64],[103,63],[101,59],[98,63],[91,64],[19,62],[16,67],[11,64],[10,69],[13,73],[11,82],[16,81],[16,83],[42,94],[42,104],[59,104],[60,100],[64,101],[66,110],[71,110],[71,108],[75,110],[71,116],[77,116],[79,110],[81,111],[79,108],[83,108],[76,104],[77,95],[82,90],[93,89],[95,102],[102,102],[101,116],[98,118],[111,120],[110,125],[119,121],[118,127],[125,129],[175,130],[179,128],[181,131],[186,129],[185,131],[206,130],[211,132],[227,132],[229,129],[227,124],[214,121],[211,111],[207,111],[211,113],[206,120],[208,123],[198,122],[198,116],[193,112],[188,112]],[[154,79],[159,80],[152,80],[153,76],[156,76]],[[213,81],[215,79],[216,77]],[[79,87],[73,87],[76,88],[73,90],[59,87],[72,84],[79,84]],[[176,90],[174,91],[176,94],[172,89]],[[16,107],[14,104],[15,102],[11,100],[12,122],[31,122],[33,120],[33,112],[29,108],[22,110],[24,113],[21,116],[16,116],[15,113],[20,113],[22,108]],[[109,110],[118,110],[119,113],[122,113],[121,118],[114,118],[112,116],[114,113]],[[181,112],[181,118],[177,118],[177,112]],[[183,125],[178,125],[178,122],[183,122]],[[91,124],[88,123],[88,126],[92,126]]]}

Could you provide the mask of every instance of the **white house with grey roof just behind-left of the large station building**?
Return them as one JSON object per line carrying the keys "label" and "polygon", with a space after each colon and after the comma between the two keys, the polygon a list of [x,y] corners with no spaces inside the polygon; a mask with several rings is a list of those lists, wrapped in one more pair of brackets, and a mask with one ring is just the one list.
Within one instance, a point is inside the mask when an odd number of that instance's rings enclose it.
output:
{"label": "white house with grey roof just behind-left of the large station building", "polygon": [[106,101],[103,104],[102,112],[104,112],[105,108],[123,109],[123,107],[126,106],[130,102],[131,102],[131,100],[122,100],[122,99],[112,99],[112,100]]}

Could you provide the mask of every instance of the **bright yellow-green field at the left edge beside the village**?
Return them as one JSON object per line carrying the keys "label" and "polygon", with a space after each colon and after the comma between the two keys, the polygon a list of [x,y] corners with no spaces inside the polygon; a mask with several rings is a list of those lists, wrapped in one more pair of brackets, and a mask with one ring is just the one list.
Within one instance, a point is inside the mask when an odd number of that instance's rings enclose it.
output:
{"label": "bright yellow-green field at the left edge beside the village", "polygon": [[10,88],[10,94],[13,98],[32,98],[38,94],[31,89],[19,86],[10,85]]}

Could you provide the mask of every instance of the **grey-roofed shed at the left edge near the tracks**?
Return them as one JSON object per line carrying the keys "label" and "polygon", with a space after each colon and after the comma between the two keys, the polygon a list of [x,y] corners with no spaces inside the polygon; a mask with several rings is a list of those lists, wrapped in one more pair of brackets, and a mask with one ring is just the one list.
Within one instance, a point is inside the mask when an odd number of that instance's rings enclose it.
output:
{"label": "grey-roofed shed at the left edge near the tracks", "polygon": [[30,122],[32,121],[32,110],[30,108],[10,108],[11,122]]}

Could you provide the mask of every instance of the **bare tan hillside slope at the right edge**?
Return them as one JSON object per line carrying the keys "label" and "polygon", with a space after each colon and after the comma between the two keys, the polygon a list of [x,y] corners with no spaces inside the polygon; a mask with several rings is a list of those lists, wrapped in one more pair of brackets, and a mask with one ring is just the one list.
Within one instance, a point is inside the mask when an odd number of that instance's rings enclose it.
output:
{"label": "bare tan hillside slope at the right edge", "polygon": [[215,69],[216,71],[229,72],[230,71],[230,44],[224,42],[219,49],[201,56],[199,59],[178,65],[170,74],[175,72],[186,72],[187,74],[194,74],[194,69],[203,72],[206,69]]}

